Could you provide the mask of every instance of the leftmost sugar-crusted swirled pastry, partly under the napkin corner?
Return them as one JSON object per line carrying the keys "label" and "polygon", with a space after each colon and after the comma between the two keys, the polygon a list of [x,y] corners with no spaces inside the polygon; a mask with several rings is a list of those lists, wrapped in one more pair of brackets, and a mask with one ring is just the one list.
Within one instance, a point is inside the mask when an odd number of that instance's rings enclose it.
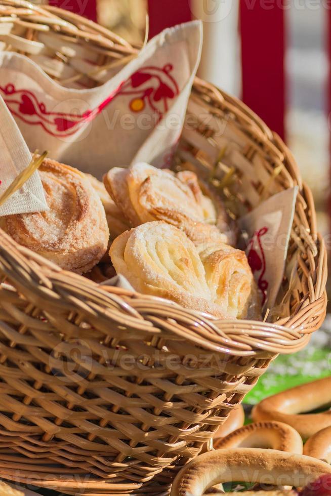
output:
{"label": "leftmost sugar-crusted swirled pastry, partly under the napkin corner", "polygon": [[39,168],[49,210],[3,217],[0,226],[19,244],[78,274],[107,251],[104,208],[85,174],[54,160]]}

